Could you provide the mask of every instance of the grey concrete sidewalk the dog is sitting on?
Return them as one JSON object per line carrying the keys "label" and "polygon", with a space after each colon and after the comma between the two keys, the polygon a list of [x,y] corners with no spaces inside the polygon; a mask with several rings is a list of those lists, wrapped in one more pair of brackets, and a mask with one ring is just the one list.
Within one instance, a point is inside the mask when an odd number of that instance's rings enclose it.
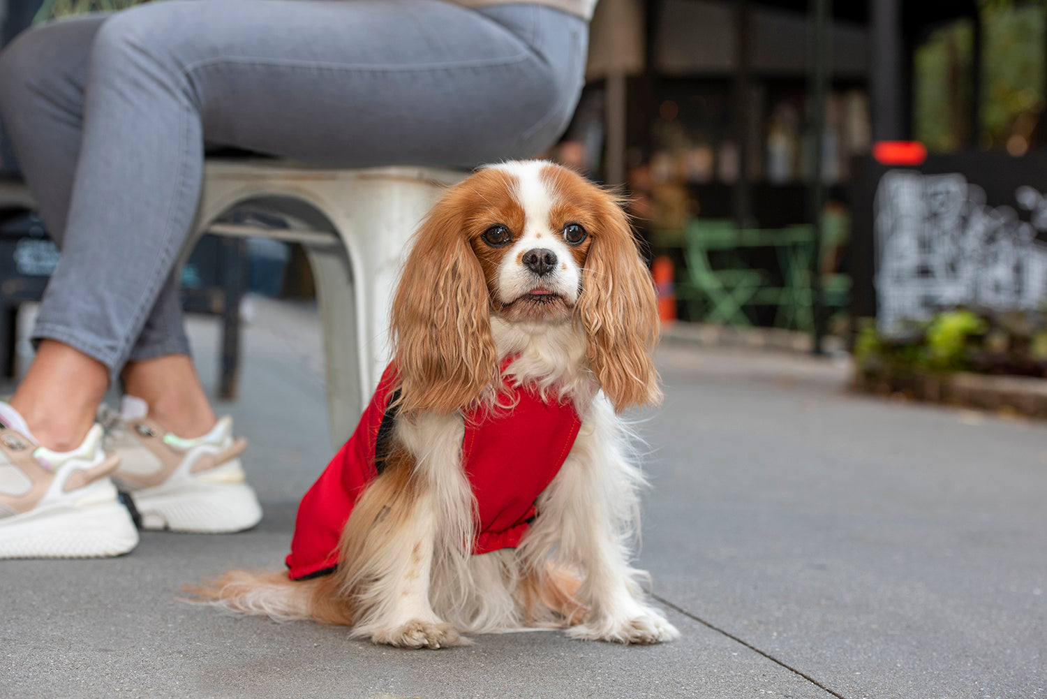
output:
{"label": "grey concrete sidewalk the dog is sitting on", "polygon": [[[216,386],[217,325],[192,336]],[[660,350],[640,563],[678,641],[400,651],[179,603],[230,566],[280,568],[332,452],[315,312],[259,303],[245,346],[221,410],[251,439],[262,524],[0,563],[0,697],[1047,696],[1047,425],[851,395],[802,355]]]}

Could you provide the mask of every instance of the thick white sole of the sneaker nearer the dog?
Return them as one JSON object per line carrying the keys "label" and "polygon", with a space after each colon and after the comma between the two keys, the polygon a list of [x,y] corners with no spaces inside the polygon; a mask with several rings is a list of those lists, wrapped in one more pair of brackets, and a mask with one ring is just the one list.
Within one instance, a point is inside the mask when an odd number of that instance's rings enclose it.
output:
{"label": "thick white sole of the sneaker nearer the dog", "polygon": [[231,533],[262,520],[262,506],[249,485],[193,482],[130,494],[141,528],[191,533]]}

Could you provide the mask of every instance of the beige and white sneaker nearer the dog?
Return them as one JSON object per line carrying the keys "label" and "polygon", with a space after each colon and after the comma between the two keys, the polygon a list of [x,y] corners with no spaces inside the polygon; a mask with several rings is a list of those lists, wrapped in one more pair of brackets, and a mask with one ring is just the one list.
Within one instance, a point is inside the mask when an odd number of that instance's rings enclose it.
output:
{"label": "beige and white sneaker nearer the dog", "polygon": [[232,420],[184,439],[148,412],[144,400],[125,396],[119,413],[103,407],[99,419],[106,449],[120,457],[113,481],[131,497],[141,527],[223,533],[258,524],[262,507],[240,463],[247,441],[232,436]]}

